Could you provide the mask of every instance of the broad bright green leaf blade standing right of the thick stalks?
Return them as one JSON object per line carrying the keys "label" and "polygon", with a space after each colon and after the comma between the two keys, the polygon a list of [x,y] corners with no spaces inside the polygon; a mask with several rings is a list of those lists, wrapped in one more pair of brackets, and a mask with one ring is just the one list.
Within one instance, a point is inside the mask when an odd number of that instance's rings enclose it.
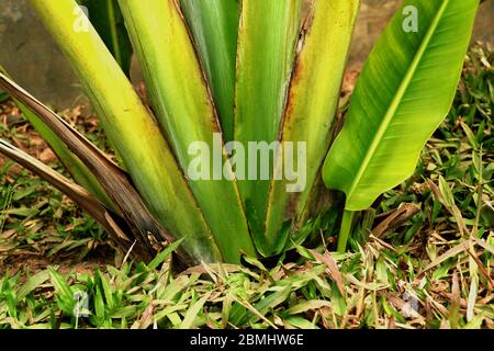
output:
{"label": "broad bright green leaf blade standing right of the thick stalks", "polygon": [[324,166],[326,185],[346,193],[346,210],[369,207],[413,173],[451,106],[478,5],[479,0],[406,0],[388,25]]}

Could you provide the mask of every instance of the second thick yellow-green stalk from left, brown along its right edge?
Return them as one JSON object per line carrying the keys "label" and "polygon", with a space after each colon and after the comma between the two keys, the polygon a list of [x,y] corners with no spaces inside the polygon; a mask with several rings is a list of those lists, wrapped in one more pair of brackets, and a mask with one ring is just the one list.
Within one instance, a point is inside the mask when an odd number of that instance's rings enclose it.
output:
{"label": "second thick yellow-green stalk from left, brown along its right edge", "polygon": [[[232,170],[225,162],[221,135],[213,137],[221,128],[199,58],[176,1],[121,0],[120,4],[143,67],[156,116],[178,162],[189,176],[190,188],[224,259],[239,262],[240,250],[255,254],[236,183],[222,177],[222,163],[226,165],[228,176],[232,176]],[[189,166],[198,156],[189,152],[195,143],[201,143],[206,148],[203,150],[205,156],[213,160],[205,179],[193,180],[190,177]]]}

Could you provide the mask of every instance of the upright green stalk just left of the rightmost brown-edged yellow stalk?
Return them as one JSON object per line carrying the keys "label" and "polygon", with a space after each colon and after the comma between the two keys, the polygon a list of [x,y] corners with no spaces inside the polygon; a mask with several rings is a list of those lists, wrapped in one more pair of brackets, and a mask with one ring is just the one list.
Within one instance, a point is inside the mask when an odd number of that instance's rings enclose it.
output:
{"label": "upright green stalk just left of the rightmost brown-edged yellow stalk", "polygon": [[[278,140],[301,29],[302,4],[300,0],[242,2],[235,139],[245,148],[249,141]],[[269,157],[269,174],[272,174],[273,154]],[[251,171],[254,165],[247,166]],[[263,254],[270,254],[274,244],[263,237],[270,181],[260,179],[260,168],[257,169],[257,180],[239,181],[238,186],[256,245]]]}

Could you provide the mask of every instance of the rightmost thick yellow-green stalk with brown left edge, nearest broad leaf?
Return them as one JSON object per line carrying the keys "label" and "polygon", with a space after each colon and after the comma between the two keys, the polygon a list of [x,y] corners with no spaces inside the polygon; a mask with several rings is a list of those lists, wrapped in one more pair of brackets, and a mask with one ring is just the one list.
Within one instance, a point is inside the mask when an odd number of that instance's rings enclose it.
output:
{"label": "rightmost thick yellow-green stalk with brown left edge, nearest broad leaf", "polygon": [[[295,59],[281,134],[283,144],[293,143],[294,157],[284,158],[280,154],[277,158],[284,169],[299,170],[300,188],[287,177],[271,183],[266,236],[279,242],[277,251],[284,244],[279,238],[279,228],[285,222],[296,224],[302,216],[329,148],[359,3],[359,0],[315,0],[304,25],[306,34]],[[305,143],[306,147],[301,165],[297,143]]]}

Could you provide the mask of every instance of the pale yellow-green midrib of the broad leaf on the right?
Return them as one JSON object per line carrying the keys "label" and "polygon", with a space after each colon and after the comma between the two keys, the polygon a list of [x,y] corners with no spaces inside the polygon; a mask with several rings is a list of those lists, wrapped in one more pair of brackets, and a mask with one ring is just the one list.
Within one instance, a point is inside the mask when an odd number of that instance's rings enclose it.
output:
{"label": "pale yellow-green midrib of the broad leaf on the right", "polygon": [[[348,194],[347,194],[347,200],[351,199],[352,193],[355,192],[358,184],[360,183],[360,180],[362,179],[362,176],[363,176],[366,169],[369,167],[369,163],[370,163],[372,157],[374,156],[375,150],[377,150],[384,133],[386,132],[393,116],[395,115],[396,110],[400,106],[400,103],[402,101],[402,98],[404,97],[408,86],[411,84],[411,81],[417,70],[418,65],[420,64],[424,53],[426,52],[427,47],[429,46],[430,39],[433,38],[433,35],[436,32],[436,30],[439,25],[439,22],[442,19],[442,15],[446,11],[446,8],[449,5],[449,3],[450,3],[450,0],[445,0],[442,2],[439,11],[435,15],[435,18],[430,24],[426,35],[424,36],[424,41],[420,44],[417,53],[415,54],[414,59],[412,60],[412,64],[405,73],[405,77],[403,78],[403,81],[400,84],[400,88],[396,91],[396,93],[390,104],[390,107],[388,109],[388,111],[385,113],[384,120],[381,123],[381,125],[378,129],[378,133],[375,134],[375,136],[372,139],[372,143],[369,148],[369,152],[367,152],[366,158],[363,159],[363,161],[357,172],[357,176],[356,176],[353,182],[351,183],[350,190],[348,191]],[[348,204],[348,201],[346,203],[346,207],[347,207],[347,204]],[[346,208],[346,210],[348,210],[348,208]]]}

